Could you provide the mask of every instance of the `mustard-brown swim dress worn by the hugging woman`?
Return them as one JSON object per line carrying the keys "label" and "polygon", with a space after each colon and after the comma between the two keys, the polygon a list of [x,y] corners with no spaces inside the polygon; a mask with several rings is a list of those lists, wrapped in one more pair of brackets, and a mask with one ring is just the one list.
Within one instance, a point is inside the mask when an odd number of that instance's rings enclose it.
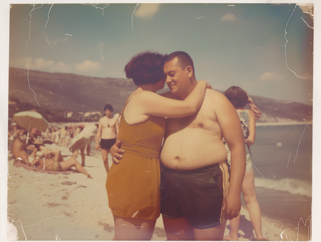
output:
{"label": "mustard-brown swim dress worn by the hugging woman", "polygon": [[126,104],[118,131],[125,153],[119,164],[111,165],[106,182],[109,207],[115,216],[155,220],[161,202],[159,153],[165,117],[151,115],[142,123],[129,125],[123,116]]}

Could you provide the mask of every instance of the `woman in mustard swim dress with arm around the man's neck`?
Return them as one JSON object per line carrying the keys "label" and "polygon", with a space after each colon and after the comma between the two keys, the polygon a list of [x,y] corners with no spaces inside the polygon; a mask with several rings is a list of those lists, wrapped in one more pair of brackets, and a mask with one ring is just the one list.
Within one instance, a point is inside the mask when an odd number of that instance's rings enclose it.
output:
{"label": "woman in mustard swim dress with arm around the man's neck", "polygon": [[[209,86],[199,81],[183,101],[156,94],[166,82],[163,59],[161,54],[139,53],[125,66],[127,78],[132,78],[137,88],[129,95],[120,116],[117,140],[122,141],[125,154],[120,163],[111,165],[106,182],[115,240],[151,239],[160,215],[159,154],[165,117],[194,114]],[[187,66],[184,73],[192,75],[192,67]]]}

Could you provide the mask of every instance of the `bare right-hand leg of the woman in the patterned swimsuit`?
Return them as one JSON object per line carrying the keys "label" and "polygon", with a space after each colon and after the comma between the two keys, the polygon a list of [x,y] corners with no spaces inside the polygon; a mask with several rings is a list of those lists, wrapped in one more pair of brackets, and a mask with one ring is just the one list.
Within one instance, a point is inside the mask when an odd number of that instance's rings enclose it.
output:
{"label": "bare right-hand leg of the woman in the patterned swimsuit", "polygon": [[261,229],[261,210],[256,199],[255,185],[254,185],[254,171],[253,169],[245,173],[242,185],[243,197],[249,210],[251,222],[253,224],[257,240],[262,240]]}

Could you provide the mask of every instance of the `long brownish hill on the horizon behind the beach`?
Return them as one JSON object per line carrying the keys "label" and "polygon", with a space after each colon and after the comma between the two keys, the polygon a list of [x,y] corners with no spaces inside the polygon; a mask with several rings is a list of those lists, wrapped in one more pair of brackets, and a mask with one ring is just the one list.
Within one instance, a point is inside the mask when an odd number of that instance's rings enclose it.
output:
{"label": "long brownish hill on the horizon behind the beach", "polygon": [[[18,111],[36,109],[48,122],[75,122],[86,111],[101,111],[106,103],[120,112],[129,94],[136,88],[131,79],[98,78],[68,73],[50,73],[9,68],[9,117]],[[168,88],[164,88],[168,90]],[[162,91],[163,92],[163,91]],[[307,121],[312,106],[298,102],[277,102],[251,96],[264,113],[258,122]],[[39,105],[37,104],[37,101]],[[74,115],[67,118],[66,112]],[[77,114],[78,113],[78,114]]]}

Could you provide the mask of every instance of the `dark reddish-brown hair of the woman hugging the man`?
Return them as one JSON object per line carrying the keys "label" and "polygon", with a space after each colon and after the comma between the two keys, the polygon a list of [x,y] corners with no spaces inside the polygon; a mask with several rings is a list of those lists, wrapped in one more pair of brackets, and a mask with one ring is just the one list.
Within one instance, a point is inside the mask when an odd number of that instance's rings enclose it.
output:
{"label": "dark reddish-brown hair of the woman hugging the man", "polygon": [[125,66],[126,77],[132,78],[137,86],[156,84],[165,78],[163,60],[164,56],[158,53],[139,53],[133,56]]}

